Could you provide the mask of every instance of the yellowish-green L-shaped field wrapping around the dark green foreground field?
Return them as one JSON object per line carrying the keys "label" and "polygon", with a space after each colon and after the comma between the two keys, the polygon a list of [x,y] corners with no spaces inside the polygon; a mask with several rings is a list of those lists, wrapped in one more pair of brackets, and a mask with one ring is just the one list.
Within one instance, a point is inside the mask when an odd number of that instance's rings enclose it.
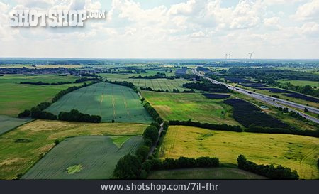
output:
{"label": "yellowish-green L-shaped field wrapping around the dark green foreground field", "polygon": [[0,179],[13,179],[24,174],[53,146],[71,136],[140,136],[147,124],[80,123],[36,120],[0,136]]}

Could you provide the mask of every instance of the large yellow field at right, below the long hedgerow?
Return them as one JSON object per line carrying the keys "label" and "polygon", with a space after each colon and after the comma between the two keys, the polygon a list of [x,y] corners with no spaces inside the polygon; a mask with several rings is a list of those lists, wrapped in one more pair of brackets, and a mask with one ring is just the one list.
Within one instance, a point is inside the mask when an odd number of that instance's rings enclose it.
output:
{"label": "large yellow field at right, below the long hedgerow", "polygon": [[240,154],[255,163],[289,167],[298,171],[300,178],[319,178],[319,140],[315,137],[169,126],[159,150],[160,158],[212,156],[233,164]]}

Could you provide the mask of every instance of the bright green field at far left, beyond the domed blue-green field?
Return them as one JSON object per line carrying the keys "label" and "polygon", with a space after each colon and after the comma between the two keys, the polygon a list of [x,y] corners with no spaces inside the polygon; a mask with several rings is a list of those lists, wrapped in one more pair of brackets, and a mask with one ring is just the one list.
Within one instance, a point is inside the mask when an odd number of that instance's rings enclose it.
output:
{"label": "bright green field at far left, beyond the domed blue-green field", "polygon": [[0,77],[0,114],[17,117],[24,109],[35,107],[40,102],[50,102],[61,90],[73,85],[21,85],[20,82],[74,82],[75,76],[58,75],[5,75]]}

